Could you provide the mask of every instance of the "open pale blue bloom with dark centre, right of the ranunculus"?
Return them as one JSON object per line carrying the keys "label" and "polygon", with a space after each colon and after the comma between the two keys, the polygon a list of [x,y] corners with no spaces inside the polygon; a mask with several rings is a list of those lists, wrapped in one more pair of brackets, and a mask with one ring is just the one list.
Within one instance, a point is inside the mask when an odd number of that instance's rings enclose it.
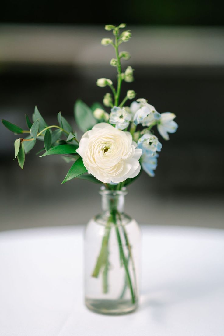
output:
{"label": "open pale blue bloom with dark centre, right of the ranunculus", "polygon": [[138,140],[138,148],[141,148],[143,154],[154,155],[155,152],[161,151],[162,143],[157,136],[145,133]]}

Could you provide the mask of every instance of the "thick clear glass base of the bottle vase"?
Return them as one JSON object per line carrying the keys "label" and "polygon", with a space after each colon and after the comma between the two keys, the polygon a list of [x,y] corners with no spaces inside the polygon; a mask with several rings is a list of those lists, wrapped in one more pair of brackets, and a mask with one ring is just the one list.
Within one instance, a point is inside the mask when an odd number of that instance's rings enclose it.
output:
{"label": "thick clear glass base of the bottle vase", "polygon": [[123,315],[131,313],[138,307],[138,302],[134,304],[130,300],[94,300],[85,299],[88,309],[104,315]]}

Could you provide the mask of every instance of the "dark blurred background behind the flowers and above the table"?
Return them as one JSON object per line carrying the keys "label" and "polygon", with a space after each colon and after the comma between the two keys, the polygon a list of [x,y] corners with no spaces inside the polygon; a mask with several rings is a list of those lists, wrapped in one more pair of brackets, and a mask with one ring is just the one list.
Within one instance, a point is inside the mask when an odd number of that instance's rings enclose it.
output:
{"label": "dark blurred background behind the flowers and above the table", "polygon": [[[76,99],[102,101],[116,81],[105,24],[127,23],[135,81],[124,83],[155,106],[173,112],[179,128],[163,148],[154,178],[129,187],[126,212],[139,223],[224,228],[224,28],[221,1],[63,3],[3,1],[0,11],[0,114],[21,127],[35,105],[48,124],[61,111],[75,126]],[[101,8],[100,8],[101,7]],[[77,127],[74,127],[77,129]],[[79,133],[81,135],[81,133]],[[98,185],[72,180],[59,156],[39,158],[38,143],[24,171],[14,158],[15,135],[0,125],[0,230],[85,224],[100,212]]]}

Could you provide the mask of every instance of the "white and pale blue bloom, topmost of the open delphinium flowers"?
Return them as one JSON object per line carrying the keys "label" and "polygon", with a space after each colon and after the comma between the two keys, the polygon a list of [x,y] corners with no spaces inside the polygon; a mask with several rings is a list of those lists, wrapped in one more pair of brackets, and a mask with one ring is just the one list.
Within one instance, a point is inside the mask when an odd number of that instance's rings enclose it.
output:
{"label": "white and pale blue bloom, topmost of the open delphinium flowers", "polygon": [[159,120],[161,114],[157,112],[154,106],[147,103],[146,99],[137,99],[140,104],[140,108],[134,115],[135,125],[142,124],[143,126],[150,126],[155,120]]}

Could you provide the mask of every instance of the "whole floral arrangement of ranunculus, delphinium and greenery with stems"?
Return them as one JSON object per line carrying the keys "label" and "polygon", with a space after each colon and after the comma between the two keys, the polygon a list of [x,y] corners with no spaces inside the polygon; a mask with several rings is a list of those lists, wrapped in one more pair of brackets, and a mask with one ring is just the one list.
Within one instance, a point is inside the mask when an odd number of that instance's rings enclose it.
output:
{"label": "whole floral arrangement of ranunculus, delphinium and greenery with stems", "polygon": [[[134,80],[134,69],[131,66],[127,66],[122,72],[121,61],[128,61],[131,57],[127,51],[119,52],[120,45],[128,42],[132,37],[130,30],[121,32],[125,27],[125,24],[117,27],[105,26],[106,31],[113,32],[114,38],[103,38],[101,44],[115,49],[116,58],[110,60],[110,65],[117,69],[117,87],[108,78],[97,80],[97,86],[108,87],[111,90],[111,93],[108,92],[103,97],[104,107],[100,103],[94,103],[90,108],[83,101],[76,101],[75,120],[84,132],[80,141],[73,127],[60,112],[57,115],[58,125],[48,126],[35,107],[32,122],[26,115],[28,130],[2,120],[3,124],[15,134],[28,133],[27,137],[18,138],[14,142],[15,158],[22,169],[25,155],[33,149],[36,141],[40,140],[44,145],[41,150],[44,153],[41,157],[59,154],[66,162],[73,163],[62,183],[73,178],[81,178],[104,184],[106,189],[113,191],[122,190],[124,186],[132,183],[142,169],[149,176],[154,176],[158,152],[161,151],[162,144],[154,134],[153,128],[156,127],[162,138],[169,140],[168,133],[174,133],[178,126],[174,121],[173,113],[159,113],[145,98],[139,98],[128,106],[127,101],[136,97],[134,90],[128,90],[126,96],[123,99],[120,98],[122,82],[132,83]],[[117,214],[118,211],[111,207],[109,220],[115,225],[117,225]],[[123,232],[130,252],[128,237],[125,230]],[[118,242],[121,242],[118,226],[116,233]],[[108,244],[108,230],[105,232],[103,242]],[[104,243],[92,273],[93,277],[98,277],[100,269],[106,264],[105,256],[108,251]],[[119,248],[132,302],[135,302],[128,269],[131,254],[130,258],[127,258],[122,246]]]}

